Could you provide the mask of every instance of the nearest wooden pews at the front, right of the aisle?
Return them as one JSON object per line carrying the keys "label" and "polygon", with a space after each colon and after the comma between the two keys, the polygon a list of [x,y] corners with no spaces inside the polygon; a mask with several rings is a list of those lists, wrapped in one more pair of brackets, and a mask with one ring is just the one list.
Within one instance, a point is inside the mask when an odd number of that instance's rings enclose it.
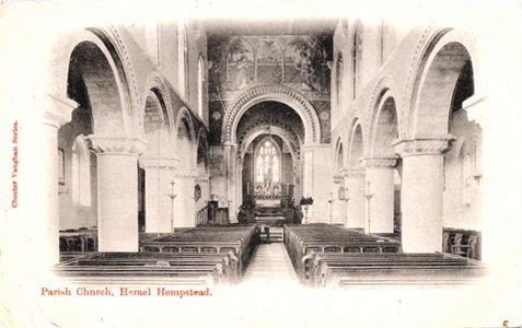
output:
{"label": "nearest wooden pews at the front, right of the aisle", "polygon": [[317,254],[306,284],[312,286],[463,284],[483,277],[478,261],[436,254]]}

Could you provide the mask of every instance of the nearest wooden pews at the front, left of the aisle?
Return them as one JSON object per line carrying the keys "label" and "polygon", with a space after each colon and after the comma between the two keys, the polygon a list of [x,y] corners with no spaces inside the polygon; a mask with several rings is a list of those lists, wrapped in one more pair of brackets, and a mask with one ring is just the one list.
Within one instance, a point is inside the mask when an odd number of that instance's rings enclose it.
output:
{"label": "nearest wooden pews at the front, left of the aisle", "polygon": [[239,271],[227,255],[97,253],[70,259],[55,273],[89,284],[219,284],[235,283]]}

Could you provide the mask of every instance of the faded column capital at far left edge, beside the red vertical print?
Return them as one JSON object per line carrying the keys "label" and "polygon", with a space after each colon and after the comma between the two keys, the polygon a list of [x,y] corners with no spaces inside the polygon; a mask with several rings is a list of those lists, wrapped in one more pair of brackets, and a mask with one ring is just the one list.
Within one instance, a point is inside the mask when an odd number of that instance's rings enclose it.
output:
{"label": "faded column capital at far left edge, beside the red vertical print", "polygon": [[42,121],[46,125],[60,128],[71,121],[71,114],[78,107],[78,103],[70,98],[56,97],[46,94],[38,97],[37,103],[42,115]]}

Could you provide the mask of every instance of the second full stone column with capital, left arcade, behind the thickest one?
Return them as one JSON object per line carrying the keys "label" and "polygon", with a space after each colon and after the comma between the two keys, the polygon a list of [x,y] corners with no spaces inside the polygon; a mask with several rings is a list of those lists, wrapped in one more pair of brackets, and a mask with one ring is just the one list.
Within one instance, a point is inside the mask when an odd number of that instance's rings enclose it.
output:
{"label": "second full stone column with capital, left arcade, behind the thickest one", "polygon": [[171,232],[171,180],[176,159],[140,159],[140,167],[146,172],[146,232]]}

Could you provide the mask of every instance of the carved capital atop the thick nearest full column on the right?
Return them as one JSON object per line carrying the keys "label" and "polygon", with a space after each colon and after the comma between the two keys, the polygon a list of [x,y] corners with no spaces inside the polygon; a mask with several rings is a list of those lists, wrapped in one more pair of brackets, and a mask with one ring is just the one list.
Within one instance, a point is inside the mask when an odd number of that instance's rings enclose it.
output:
{"label": "carved capital atop the thick nearest full column on the right", "polygon": [[450,148],[450,142],[455,140],[451,134],[431,137],[417,136],[415,139],[399,139],[393,145],[401,157],[419,155],[442,155]]}

